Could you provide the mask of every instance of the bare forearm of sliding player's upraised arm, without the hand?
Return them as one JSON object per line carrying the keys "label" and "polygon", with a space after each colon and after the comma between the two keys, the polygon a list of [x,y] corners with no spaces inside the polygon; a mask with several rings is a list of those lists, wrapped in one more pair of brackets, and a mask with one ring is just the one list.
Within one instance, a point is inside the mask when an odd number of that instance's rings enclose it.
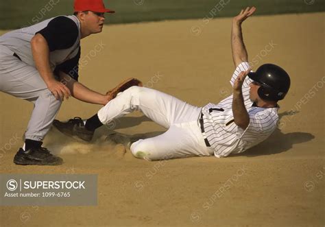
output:
{"label": "bare forearm of sliding player's upraised arm, without the hand", "polygon": [[238,21],[232,22],[231,49],[232,49],[232,60],[234,61],[234,67],[237,67],[241,62],[248,61],[248,53],[246,51],[245,44],[243,43],[241,23],[239,23]]}

